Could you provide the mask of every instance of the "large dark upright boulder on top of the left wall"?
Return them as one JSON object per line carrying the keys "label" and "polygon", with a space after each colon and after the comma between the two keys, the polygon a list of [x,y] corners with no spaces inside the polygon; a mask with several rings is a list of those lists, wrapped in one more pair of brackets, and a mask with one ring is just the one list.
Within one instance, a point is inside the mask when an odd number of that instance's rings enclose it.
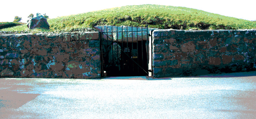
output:
{"label": "large dark upright boulder on top of the left wall", "polygon": [[28,21],[27,27],[29,29],[33,29],[33,28],[50,29],[50,25],[48,24],[47,19],[44,18],[44,16],[41,15],[40,13],[36,13],[36,17]]}

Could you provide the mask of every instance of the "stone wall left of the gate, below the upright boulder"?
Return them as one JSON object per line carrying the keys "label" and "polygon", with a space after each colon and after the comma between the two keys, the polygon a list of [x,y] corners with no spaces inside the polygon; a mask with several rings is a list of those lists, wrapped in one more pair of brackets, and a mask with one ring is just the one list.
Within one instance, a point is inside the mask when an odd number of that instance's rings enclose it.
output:
{"label": "stone wall left of the gate, below the upright boulder", "polygon": [[98,32],[0,35],[0,76],[100,78]]}

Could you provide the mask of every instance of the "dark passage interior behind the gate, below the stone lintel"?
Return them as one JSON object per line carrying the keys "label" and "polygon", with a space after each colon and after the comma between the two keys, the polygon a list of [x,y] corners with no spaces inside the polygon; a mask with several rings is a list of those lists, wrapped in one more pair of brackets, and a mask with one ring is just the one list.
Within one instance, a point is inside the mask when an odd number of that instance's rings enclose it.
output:
{"label": "dark passage interior behind the gate, below the stone lintel", "polygon": [[[112,44],[111,44],[112,43]],[[148,75],[147,41],[118,42],[104,41],[102,47],[106,76],[142,76]]]}

